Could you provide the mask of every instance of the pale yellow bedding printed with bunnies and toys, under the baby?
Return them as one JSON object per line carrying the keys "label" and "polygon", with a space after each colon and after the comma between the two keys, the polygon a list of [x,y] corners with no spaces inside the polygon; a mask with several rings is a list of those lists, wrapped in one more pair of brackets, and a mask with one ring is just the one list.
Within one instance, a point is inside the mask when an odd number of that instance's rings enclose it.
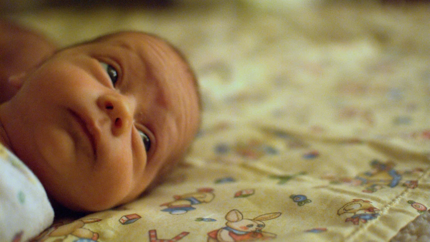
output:
{"label": "pale yellow bedding printed with bunnies and toys, under the baby", "polygon": [[8,16],[62,46],[166,37],[200,81],[202,126],[163,184],[34,241],[430,239],[430,5],[95,3]]}

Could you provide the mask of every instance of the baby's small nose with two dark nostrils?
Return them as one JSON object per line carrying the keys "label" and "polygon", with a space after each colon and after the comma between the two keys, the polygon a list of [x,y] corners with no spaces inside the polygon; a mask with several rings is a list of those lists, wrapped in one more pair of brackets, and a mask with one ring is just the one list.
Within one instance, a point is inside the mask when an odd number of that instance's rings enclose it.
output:
{"label": "baby's small nose with two dark nostrils", "polygon": [[111,119],[112,133],[115,136],[130,130],[133,123],[134,105],[127,96],[103,94],[97,99],[97,105]]}

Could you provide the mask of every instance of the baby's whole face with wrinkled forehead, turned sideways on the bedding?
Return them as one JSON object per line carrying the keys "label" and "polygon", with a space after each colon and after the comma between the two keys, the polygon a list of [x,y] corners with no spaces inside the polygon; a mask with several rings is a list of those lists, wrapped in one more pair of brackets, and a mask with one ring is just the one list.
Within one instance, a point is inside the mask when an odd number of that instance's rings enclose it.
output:
{"label": "baby's whole face with wrinkled forehead, turned sideways on the bedding", "polygon": [[13,100],[14,151],[48,194],[77,210],[135,199],[178,160],[199,123],[188,65],[163,40],[124,32],[65,49]]}

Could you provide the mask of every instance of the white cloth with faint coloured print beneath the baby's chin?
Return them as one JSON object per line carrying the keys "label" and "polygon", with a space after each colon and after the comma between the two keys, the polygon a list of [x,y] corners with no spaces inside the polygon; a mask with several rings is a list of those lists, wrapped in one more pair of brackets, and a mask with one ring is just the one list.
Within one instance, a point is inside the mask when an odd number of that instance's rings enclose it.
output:
{"label": "white cloth with faint coloured print beneath the baby's chin", "polygon": [[0,144],[0,241],[27,241],[52,220],[53,209],[40,181]]}

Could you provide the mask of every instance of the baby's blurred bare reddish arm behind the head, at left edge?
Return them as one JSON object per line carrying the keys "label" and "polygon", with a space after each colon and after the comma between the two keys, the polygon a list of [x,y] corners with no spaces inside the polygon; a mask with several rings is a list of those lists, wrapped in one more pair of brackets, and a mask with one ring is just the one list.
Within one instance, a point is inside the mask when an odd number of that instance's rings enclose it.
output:
{"label": "baby's blurred bare reddish arm behind the head, at left edge", "polygon": [[42,34],[0,19],[0,103],[11,99],[18,89],[8,82],[10,76],[38,66],[56,49]]}

